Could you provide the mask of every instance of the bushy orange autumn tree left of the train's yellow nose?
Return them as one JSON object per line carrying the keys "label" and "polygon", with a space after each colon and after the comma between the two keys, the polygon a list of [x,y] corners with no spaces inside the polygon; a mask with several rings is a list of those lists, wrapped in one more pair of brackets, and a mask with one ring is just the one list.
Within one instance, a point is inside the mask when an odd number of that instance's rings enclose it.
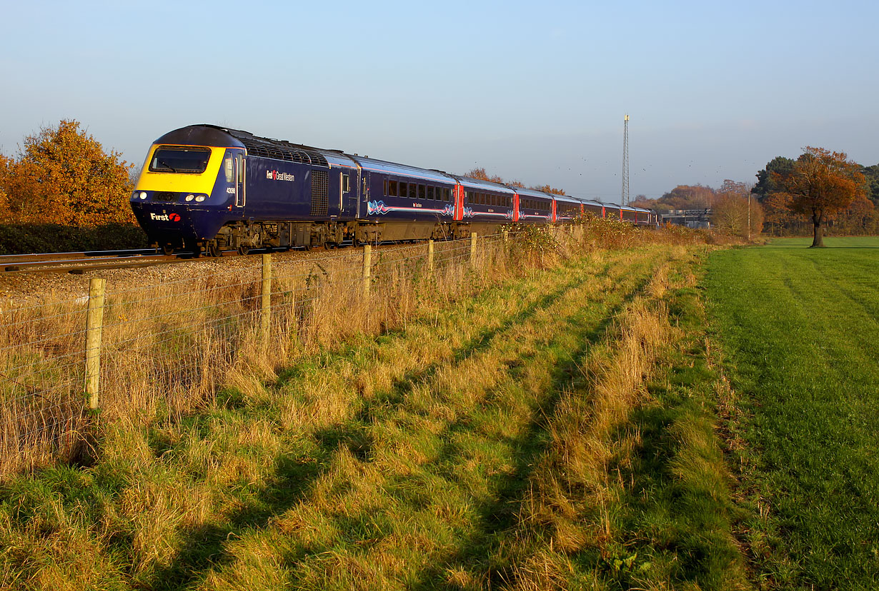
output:
{"label": "bushy orange autumn tree left of the train's yellow nose", "polygon": [[131,168],[118,152],[105,153],[78,121],[62,120],[26,137],[18,159],[0,162],[6,217],[79,227],[132,223]]}

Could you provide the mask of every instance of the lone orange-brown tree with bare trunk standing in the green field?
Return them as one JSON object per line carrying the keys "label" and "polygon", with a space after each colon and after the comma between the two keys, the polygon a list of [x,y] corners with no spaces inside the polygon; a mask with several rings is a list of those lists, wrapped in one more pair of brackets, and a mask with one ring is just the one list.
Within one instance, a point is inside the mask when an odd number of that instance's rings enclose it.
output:
{"label": "lone orange-brown tree with bare trunk standing in the green field", "polygon": [[790,210],[810,216],[814,231],[810,248],[824,246],[822,225],[862,195],[866,184],[861,166],[847,160],[844,152],[809,146],[787,174],[774,172],[771,177],[790,196]]}

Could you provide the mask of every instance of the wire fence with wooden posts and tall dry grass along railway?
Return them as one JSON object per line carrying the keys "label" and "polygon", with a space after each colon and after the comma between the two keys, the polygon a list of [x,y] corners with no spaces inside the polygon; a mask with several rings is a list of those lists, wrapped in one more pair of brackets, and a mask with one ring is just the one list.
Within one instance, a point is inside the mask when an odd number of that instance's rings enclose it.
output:
{"label": "wire fence with wooden posts and tall dry grass along railway", "polygon": [[108,285],[101,299],[91,292],[4,310],[0,473],[76,458],[98,418],[173,418],[210,400],[230,372],[276,368],[399,326],[419,306],[503,277],[521,264],[523,242],[474,234],[309,259],[252,257],[243,268],[158,285]]}

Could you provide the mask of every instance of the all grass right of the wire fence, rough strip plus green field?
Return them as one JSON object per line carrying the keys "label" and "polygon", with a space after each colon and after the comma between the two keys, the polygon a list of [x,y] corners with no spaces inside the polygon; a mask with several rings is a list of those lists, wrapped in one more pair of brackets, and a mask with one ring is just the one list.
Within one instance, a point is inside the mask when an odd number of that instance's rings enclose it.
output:
{"label": "all grass right of the wire fence, rough strip plus green field", "polygon": [[105,420],[0,483],[0,589],[879,588],[879,239],[808,244],[541,256]]}

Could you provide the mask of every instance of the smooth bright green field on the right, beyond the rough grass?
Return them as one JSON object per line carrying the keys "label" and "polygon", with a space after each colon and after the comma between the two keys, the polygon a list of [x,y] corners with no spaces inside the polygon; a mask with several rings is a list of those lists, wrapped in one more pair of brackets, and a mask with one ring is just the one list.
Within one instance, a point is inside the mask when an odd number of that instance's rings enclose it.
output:
{"label": "smooth bright green field on the right, beyond the rough grass", "polygon": [[705,281],[766,588],[879,588],[879,239],[825,242],[717,251]]}

